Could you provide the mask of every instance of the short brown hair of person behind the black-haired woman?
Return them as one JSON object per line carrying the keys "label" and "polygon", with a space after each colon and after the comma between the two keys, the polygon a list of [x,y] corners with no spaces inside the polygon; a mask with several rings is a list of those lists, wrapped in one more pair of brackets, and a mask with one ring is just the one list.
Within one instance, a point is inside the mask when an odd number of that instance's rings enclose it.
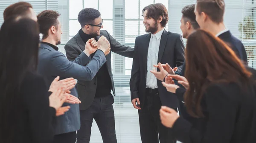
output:
{"label": "short brown hair of person behind the black-haired woman", "polygon": [[26,3],[26,2],[14,3],[14,4],[8,6],[3,11],[3,20],[7,20],[14,15],[21,16],[24,14],[28,14],[29,8],[33,8],[30,3]]}

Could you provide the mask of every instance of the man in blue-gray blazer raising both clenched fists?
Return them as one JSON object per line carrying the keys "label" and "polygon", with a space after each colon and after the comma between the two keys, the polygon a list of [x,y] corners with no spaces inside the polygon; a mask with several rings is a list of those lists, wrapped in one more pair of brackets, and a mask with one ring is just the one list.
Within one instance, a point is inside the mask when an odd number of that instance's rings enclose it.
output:
{"label": "man in blue-gray blazer raising both clenched fists", "polygon": [[[58,20],[60,14],[56,11],[46,10],[38,14],[40,32],[44,35],[39,49],[38,71],[45,76],[47,85],[56,76],[60,79],[73,77],[78,80],[92,80],[99,68],[106,62],[105,52],[110,47],[108,40],[102,36],[98,43],[89,39],[84,45],[84,51],[70,62],[63,53],[58,51],[56,45],[61,42],[61,23]],[[96,47],[98,50],[96,50]],[[93,58],[88,57],[95,53]],[[87,64],[90,61],[89,64]],[[70,90],[72,95],[78,97],[75,88]],[[55,137],[53,143],[75,143],[76,130],[80,129],[80,115],[78,104],[64,104],[70,106],[70,110],[57,117],[55,123]]]}

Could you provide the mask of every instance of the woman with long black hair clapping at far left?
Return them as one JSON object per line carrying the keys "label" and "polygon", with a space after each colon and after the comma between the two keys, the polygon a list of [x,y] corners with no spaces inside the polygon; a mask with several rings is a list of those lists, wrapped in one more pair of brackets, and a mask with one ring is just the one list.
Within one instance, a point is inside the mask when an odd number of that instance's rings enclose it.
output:
{"label": "woman with long black hair clapping at far left", "polygon": [[[44,79],[36,73],[38,49],[37,22],[13,17],[3,23],[0,29],[0,143],[50,143],[52,121],[69,108],[61,107],[67,96],[58,79],[47,89]],[[58,109],[61,110],[56,112]]]}

